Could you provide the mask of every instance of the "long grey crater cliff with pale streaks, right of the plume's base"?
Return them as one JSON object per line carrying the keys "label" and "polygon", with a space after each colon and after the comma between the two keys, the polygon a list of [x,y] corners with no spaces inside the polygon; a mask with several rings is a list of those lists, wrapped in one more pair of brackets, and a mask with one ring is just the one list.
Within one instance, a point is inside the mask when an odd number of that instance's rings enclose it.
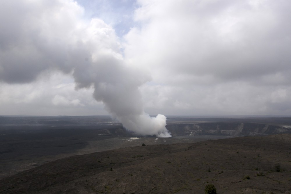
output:
{"label": "long grey crater cliff with pale streaks, right of the plume's base", "polygon": [[286,127],[244,122],[169,124],[166,128],[173,135],[223,135],[233,137],[271,135],[282,132],[291,132],[291,129]]}

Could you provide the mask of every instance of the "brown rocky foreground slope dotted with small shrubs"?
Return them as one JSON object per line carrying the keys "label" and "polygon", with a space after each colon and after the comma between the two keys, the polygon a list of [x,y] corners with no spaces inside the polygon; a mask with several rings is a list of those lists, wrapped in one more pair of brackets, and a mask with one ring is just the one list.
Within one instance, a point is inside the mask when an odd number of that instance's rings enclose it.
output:
{"label": "brown rocky foreground slope dotted with small shrubs", "polygon": [[0,180],[0,193],[291,193],[291,134],[71,156]]}

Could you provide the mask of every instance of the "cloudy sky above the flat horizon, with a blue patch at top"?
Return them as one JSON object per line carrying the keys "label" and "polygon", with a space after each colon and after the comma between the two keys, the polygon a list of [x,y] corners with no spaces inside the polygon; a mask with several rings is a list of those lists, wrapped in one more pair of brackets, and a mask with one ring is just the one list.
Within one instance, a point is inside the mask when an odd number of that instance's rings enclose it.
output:
{"label": "cloudy sky above the flat horizon, with a blue patch at top", "polygon": [[290,116],[290,8],[0,1],[0,115]]}

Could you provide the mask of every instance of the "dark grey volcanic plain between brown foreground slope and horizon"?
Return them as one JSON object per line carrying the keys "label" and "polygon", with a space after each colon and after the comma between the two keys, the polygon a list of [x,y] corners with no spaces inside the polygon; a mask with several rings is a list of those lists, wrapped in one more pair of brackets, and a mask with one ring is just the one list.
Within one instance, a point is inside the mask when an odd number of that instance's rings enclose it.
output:
{"label": "dark grey volcanic plain between brown foreground slope and horizon", "polygon": [[[290,133],[290,117],[168,117],[172,138],[137,137],[109,116],[0,117],[0,179],[74,155]],[[186,146],[186,147],[187,147]],[[4,179],[3,179],[4,180]]]}

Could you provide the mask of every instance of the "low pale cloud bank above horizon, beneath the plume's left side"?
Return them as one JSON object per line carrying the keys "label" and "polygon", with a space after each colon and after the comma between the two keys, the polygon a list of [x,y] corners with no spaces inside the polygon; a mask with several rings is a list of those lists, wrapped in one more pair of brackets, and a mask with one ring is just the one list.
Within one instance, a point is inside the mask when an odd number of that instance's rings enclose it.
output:
{"label": "low pale cloud bank above horizon, beneath the plume's left side", "polygon": [[52,74],[37,82],[0,84],[0,115],[106,115],[93,88],[75,90],[71,75]]}

